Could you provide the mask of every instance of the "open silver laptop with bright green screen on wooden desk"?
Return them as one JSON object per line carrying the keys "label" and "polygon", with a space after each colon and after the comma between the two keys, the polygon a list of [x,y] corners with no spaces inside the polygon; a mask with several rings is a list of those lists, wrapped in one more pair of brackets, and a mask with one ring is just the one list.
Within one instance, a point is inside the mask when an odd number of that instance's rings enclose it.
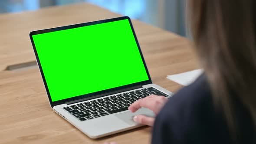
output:
{"label": "open silver laptop with bright green screen on wooden desk", "polygon": [[128,107],[172,92],[152,83],[128,16],[30,33],[53,111],[91,138],[141,127]]}

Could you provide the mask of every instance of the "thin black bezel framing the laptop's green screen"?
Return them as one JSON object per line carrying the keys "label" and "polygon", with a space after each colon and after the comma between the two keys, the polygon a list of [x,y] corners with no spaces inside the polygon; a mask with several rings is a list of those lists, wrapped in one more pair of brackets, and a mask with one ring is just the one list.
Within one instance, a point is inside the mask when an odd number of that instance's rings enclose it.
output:
{"label": "thin black bezel framing the laptop's green screen", "polygon": [[[41,63],[40,63],[40,60],[39,60],[39,57],[38,57],[38,54],[37,54],[36,47],[35,47],[32,36],[37,35],[37,34],[42,34],[42,33],[50,33],[50,32],[55,32],[55,31],[59,31],[59,30],[78,28],[78,27],[82,27],[82,26],[90,26],[90,25],[95,25],[95,24],[100,24],[100,23],[108,23],[108,22],[113,22],[113,21],[118,21],[118,20],[129,20],[132,33],[134,35],[136,44],[138,46],[138,50],[139,50],[140,55],[141,55],[141,59],[143,61],[145,70],[146,70],[147,75],[148,75],[148,80],[133,83],[133,84],[129,84],[129,85],[123,85],[123,86],[119,86],[119,87],[116,87],[116,88],[110,88],[110,89],[106,89],[106,90],[99,91],[99,92],[93,92],[93,93],[89,93],[89,94],[85,94],[85,95],[79,95],[79,96],[75,96],[75,97],[72,97],[72,98],[66,98],[66,99],[59,100],[59,101],[52,101],[52,98],[51,98],[50,93],[49,93],[49,89],[48,89],[48,86],[47,86],[47,83],[46,83],[45,76],[43,74],[43,69],[42,69],[42,66],[41,66]],[[121,89],[124,89],[124,88],[134,87],[134,86],[138,86],[138,85],[147,85],[147,84],[152,83],[151,77],[150,77],[149,72],[148,72],[147,65],[144,61],[144,57],[142,55],[141,48],[140,48],[139,43],[138,43],[138,39],[135,35],[135,31],[134,31],[134,28],[133,28],[132,23],[131,23],[131,19],[128,16],[122,16],[122,17],[117,17],[117,18],[112,18],[112,19],[107,19],[107,20],[98,20],[98,21],[88,22],[88,23],[79,23],[79,24],[74,24],[74,25],[69,25],[69,26],[61,26],[61,27],[50,28],[50,29],[36,30],[36,31],[30,32],[30,40],[31,40],[31,43],[32,43],[32,46],[33,46],[33,50],[35,52],[36,61],[37,61],[40,73],[42,75],[42,78],[43,78],[43,83],[44,83],[44,86],[46,88],[47,96],[49,98],[49,102],[50,102],[51,107],[53,107],[55,105],[61,105],[61,104],[64,104],[66,102],[69,102],[69,101],[75,101],[75,100],[79,100],[79,99],[82,99],[82,98],[88,98],[88,97],[93,97],[95,95],[101,95],[101,94],[105,94],[105,93],[108,93],[108,92],[118,91],[118,90],[121,90]]]}

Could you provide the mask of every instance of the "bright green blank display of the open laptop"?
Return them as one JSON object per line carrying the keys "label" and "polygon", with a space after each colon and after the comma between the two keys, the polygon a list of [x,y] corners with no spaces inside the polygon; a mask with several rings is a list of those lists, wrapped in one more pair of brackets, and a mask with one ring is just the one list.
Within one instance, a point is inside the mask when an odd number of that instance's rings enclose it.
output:
{"label": "bright green blank display of the open laptop", "polygon": [[149,79],[128,20],[32,37],[52,101]]}

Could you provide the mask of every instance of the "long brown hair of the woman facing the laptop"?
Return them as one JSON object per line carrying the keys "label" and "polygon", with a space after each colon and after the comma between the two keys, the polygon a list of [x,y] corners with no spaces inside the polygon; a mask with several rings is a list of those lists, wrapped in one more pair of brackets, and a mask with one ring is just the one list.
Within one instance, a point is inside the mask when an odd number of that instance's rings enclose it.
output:
{"label": "long brown hair of the woman facing the laptop", "polygon": [[234,96],[256,124],[255,4],[255,0],[187,0],[190,31],[215,104],[236,136]]}

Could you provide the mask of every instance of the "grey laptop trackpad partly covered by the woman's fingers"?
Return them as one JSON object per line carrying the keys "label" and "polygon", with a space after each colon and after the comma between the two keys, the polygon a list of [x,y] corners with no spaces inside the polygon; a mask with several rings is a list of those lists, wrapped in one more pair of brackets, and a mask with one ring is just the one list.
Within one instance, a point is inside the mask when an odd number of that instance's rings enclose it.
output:
{"label": "grey laptop trackpad partly covered by the woman's fingers", "polygon": [[145,115],[145,116],[148,116],[148,117],[155,117],[154,112],[151,111],[148,108],[140,108],[135,113],[131,113],[131,111],[127,111],[127,112],[124,112],[124,113],[121,113],[121,114],[117,114],[115,116],[118,117],[119,119],[121,119],[122,121],[124,121],[127,124],[134,125],[134,124],[138,124],[137,122],[133,121],[133,117],[135,115]]}

